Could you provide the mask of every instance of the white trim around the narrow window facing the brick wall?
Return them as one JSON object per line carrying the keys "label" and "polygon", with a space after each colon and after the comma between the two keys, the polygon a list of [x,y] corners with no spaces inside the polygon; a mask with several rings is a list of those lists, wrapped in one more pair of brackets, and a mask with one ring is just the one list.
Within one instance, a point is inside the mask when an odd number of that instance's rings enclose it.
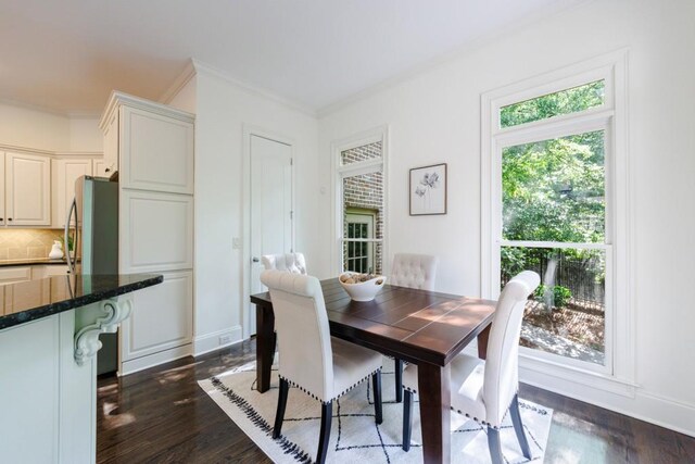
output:
{"label": "white trim around the narrow window facing the brick wall", "polygon": [[[361,161],[348,165],[341,165],[340,153],[353,148],[381,141],[381,159]],[[381,268],[383,274],[388,274],[387,266],[389,260],[389,127],[387,125],[365,130],[354,136],[337,140],[330,146],[331,151],[331,269],[333,273],[341,273],[343,268],[343,202],[342,202],[342,179],[343,177],[356,176],[361,174],[382,172],[383,178],[383,228],[382,239],[365,239],[374,242],[381,242]]]}

